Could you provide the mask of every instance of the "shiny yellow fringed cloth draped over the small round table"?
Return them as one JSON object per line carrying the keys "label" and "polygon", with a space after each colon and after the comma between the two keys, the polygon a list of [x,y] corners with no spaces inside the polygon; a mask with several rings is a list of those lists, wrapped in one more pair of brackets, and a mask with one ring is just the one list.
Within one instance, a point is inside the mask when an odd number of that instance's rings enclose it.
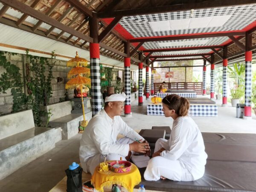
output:
{"label": "shiny yellow fringed cloth draped over the small round table", "polygon": [[[112,162],[112,161],[108,161]],[[125,173],[115,173],[111,170],[107,172],[100,172],[99,165],[95,168],[91,183],[96,190],[103,192],[103,187],[111,186],[113,184],[122,185],[129,192],[132,192],[135,185],[141,182],[141,176],[139,169],[133,163],[131,163],[131,171]]]}

